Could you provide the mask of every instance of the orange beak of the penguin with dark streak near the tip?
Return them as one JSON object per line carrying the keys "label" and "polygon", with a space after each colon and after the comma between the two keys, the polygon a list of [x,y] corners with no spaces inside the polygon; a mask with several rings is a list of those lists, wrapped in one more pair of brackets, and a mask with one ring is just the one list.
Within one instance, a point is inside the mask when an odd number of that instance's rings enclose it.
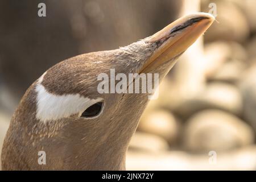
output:
{"label": "orange beak of the penguin with dark streak near the tip", "polygon": [[143,65],[140,73],[148,73],[183,53],[214,22],[208,13],[195,13],[177,19],[152,35],[148,42],[161,44]]}

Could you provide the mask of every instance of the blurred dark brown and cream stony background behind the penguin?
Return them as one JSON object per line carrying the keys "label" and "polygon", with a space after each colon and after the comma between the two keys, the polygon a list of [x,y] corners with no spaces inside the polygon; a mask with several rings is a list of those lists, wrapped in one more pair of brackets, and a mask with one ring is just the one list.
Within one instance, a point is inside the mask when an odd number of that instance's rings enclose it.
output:
{"label": "blurred dark brown and cream stony background behind the penguin", "polygon": [[[46,17],[38,16],[40,2]],[[0,1],[0,152],[20,98],[52,65],[126,46],[203,11],[217,22],[160,85],[126,166],[256,170],[255,9],[255,0]]]}

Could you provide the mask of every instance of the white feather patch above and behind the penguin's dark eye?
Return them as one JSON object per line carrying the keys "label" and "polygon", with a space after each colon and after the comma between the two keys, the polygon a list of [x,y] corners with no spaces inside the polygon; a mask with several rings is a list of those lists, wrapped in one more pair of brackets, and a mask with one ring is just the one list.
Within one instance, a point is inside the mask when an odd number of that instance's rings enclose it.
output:
{"label": "white feather patch above and behind the penguin's dark eye", "polygon": [[73,114],[81,115],[89,106],[102,101],[102,98],[90,99],[80,94],[57,96],[47,92],[42,84],[36,85],[36,118],[42,122],[67,118]]}

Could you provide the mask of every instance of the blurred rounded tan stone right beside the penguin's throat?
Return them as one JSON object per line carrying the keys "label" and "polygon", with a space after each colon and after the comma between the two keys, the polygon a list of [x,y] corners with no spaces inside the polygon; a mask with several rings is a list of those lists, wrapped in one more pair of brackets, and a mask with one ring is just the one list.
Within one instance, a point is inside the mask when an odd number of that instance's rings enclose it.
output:
{"label": "blurred rounded tan stone right beside the penguin's throat", "polygon": [[166,139],[169,144],[173,144],[179,133],[179,122],[172,113],[156,110],[142,115],[138,130],[158,135]]}

